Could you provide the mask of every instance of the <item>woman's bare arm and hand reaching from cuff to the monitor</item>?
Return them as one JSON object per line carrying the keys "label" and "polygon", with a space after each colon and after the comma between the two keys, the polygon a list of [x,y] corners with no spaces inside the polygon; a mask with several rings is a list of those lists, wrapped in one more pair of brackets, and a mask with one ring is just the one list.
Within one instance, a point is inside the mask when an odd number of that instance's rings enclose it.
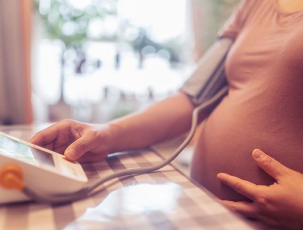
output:
{"label": "woman's bare arm and hand reaching from cuff to the monitor", "polygon": [[65,154],[70,160],[102,160],[109,153],[146,147],[186,132],[193,109],[189,97],[178,92],[104,125],[60,121],[38,132],[31,142]]}

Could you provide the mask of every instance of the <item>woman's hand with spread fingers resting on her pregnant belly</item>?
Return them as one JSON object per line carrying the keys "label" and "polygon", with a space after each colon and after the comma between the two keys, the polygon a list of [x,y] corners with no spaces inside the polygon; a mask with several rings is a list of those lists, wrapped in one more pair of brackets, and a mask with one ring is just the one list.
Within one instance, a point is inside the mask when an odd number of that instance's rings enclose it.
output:
{"label": "woman's hand with spread fingers resting on her pregnant belly", "polygon": [[218,174],[217,178],[221,182],[252,200],[221,202],[246,217],[258,219],[268,225],[302,229],[303,174],[287,168],[259,149],[252,152],[252,158],[276,183],[260,186],[228,174]]}

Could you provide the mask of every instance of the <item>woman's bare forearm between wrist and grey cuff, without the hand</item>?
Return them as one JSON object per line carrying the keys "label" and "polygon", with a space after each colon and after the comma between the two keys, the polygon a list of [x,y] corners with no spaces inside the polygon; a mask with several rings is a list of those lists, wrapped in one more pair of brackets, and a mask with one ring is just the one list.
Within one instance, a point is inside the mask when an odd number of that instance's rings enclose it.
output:
{"label": "woman's bare forearm between wrist and grey cuff, without the hand", "polygon": [[112,152],[146,147],[189,130],[194,106],[182,92],[109,123]]}

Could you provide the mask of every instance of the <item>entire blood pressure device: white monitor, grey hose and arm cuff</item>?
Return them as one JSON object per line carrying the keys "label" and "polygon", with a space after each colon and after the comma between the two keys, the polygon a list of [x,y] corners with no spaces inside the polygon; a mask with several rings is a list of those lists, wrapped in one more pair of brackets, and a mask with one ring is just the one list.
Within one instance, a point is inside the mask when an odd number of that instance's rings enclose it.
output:
{"label": "entire blood pressure device: white monitor, grey hose and arm cuff", "polygon": [[[0,132],[0,203],[29,199],[53,204],[72,202],[88,196],[107,181],[145,174],[169,164],[192,139],[199,112],[210,111],[228,93],[224,61],[232,42],[225,38],[217,41],[199,63],[199,72],[181,88],[196,107],[188,136],[170,157],[156,165],[115,171],[88,184],[79,163]],[[207,78],[201,81],[200,76]]]}

